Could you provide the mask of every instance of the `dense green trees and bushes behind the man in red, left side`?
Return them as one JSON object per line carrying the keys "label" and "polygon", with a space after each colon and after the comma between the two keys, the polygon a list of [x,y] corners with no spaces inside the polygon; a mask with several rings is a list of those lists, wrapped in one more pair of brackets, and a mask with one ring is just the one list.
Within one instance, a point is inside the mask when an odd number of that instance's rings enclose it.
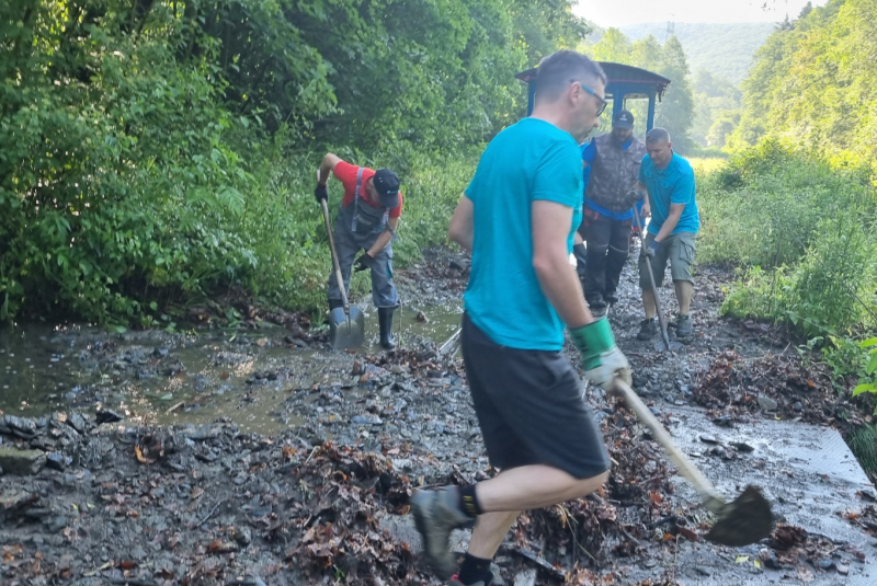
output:
{"label": "dense green trees and bushes behind the man in red, left side", "polygon": [[570,5],[3,2],[0,320],[146,325],[232,284],[318,307],[329,145],[399,170],[410,262],[523,113],[513,74],[588,31]]}

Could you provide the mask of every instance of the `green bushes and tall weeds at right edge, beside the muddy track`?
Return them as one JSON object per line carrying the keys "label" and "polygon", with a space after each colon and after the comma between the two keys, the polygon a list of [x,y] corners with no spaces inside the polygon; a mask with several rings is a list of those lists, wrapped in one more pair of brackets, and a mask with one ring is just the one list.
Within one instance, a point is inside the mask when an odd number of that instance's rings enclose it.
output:
{"label": "green bushes and tall weeds at right edge, beside the muddy track", "polygon": [[703,176],[698,261],[742,274],[724,311],[810,336],[877,328],[877,200],[863,177],[776,141]]}

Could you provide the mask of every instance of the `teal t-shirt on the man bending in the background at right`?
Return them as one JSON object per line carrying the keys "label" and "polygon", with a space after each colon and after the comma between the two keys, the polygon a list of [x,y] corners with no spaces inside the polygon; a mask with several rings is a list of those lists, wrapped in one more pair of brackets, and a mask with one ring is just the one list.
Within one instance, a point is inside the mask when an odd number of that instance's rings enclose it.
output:
{"label": "teal t-shirt on the man bending in the background at right", "polygon": [[651,221],[649,233],[658,234],[670,215],[670,204],[685,204],[682,216],[679,218],[674,234],[679,232],[697,233],[701,228],[701,216],[697,214],[695,199],[694,169],[691,163],[673,153],[667,169],[658,169],[647,154],[639,165],[639,181],[649,189],[649,205],[651,206]]}

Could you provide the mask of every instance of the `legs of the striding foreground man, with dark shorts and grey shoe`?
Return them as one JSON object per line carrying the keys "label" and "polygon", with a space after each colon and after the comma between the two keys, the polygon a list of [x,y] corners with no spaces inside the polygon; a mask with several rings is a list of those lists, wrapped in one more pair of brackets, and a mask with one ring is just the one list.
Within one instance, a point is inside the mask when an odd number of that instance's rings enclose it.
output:
{"label": "legs of the striding foreground man, with dark shorts and grey shoe", "polygon": [[582,399],[581,383],[560,353],[498,346],[467,315],[462,337],[481,435],[490,463],[502,472],[476,485],[418,491],[412,496],[424,552],[442,577],[456,567],[448,549],[455,528],[483,518],[469,550],[483,565],[519,510],[584,496],[605,482],[608,469],[608,455]]}

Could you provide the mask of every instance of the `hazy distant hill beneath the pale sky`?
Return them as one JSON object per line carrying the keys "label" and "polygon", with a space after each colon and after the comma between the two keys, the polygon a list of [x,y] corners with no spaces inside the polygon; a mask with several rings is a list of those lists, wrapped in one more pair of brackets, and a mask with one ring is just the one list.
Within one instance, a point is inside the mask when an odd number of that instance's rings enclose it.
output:
{"label": "hazy distant hill beneath the pale sky", "polygon": [[[622,26],[631,41],[654,35],[662,42],[667,37],[667,23],[653,22]],[[764,44],[774,30],[770,22],[738,24],[675,23],[674,34],[685,49],[692,73],[706,69],[714,76],[739,84],[747,77],[755,49]],[[597,32],[599,34],[599,32]]]}

